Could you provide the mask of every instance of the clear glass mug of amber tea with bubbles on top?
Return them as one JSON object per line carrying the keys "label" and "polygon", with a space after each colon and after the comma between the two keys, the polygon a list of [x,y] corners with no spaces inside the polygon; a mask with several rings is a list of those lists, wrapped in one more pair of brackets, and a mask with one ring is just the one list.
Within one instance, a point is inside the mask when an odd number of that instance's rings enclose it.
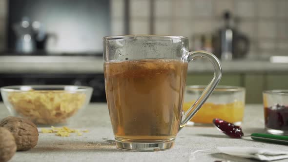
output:
{"label": "clear glass mug of amber tea with bubbles on top", "polygon": [[[184,113],[187,66],[197,57],[214,65],[214,77]],[[188,51],[186,37],[104,37],[103,61],[116,146],[133,151],[171,148],[178,131],[200,109],[222,75],[220,62],[213,54]]]}

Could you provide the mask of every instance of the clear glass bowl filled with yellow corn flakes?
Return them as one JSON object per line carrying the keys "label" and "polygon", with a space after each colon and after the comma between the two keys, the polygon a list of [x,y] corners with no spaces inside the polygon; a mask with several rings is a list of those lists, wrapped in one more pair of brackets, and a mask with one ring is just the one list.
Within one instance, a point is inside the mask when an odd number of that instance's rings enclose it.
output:
{"label": "clear glass bowl filled with yellow corn flakes", "polygon": [[92,87],[76,85],[14,85],[0,88],[12,116],[36,124],[64,124],[87,106]]}

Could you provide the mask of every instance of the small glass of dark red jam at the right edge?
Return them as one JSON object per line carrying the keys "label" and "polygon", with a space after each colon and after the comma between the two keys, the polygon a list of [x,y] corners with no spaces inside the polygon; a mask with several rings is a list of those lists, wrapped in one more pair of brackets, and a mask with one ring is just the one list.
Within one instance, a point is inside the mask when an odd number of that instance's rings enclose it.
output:
{"label": "small glass of dark red jam at the right edge", "polygon": [[266,131],[288,135],[288,90],[264,91],[263,105]]}

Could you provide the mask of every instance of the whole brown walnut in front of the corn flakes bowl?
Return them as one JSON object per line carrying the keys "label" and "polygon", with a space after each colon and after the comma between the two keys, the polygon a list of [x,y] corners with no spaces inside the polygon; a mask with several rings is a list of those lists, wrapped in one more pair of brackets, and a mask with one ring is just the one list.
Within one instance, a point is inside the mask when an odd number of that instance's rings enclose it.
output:
{"label": "whole brown walnut in front of the corn flakes bowl", "polygon": [[14,136],[17,151],[29,150],[38,142],[38,129],[29,120],[18,117],[7,117],[0,121],[0,127],[6,127]]}

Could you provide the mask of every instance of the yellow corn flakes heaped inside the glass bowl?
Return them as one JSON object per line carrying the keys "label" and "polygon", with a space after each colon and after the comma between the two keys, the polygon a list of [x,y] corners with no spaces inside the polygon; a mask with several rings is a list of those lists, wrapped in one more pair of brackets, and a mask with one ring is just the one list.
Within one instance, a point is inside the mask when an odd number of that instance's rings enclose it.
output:
{"label": "yellow corn flakes heaped inside the glass bowl", "polygon": [[10,92],[8,101],[22,117],[39,124],[63,123],[73,116],[86,100],[83,93],[63,90]]}

